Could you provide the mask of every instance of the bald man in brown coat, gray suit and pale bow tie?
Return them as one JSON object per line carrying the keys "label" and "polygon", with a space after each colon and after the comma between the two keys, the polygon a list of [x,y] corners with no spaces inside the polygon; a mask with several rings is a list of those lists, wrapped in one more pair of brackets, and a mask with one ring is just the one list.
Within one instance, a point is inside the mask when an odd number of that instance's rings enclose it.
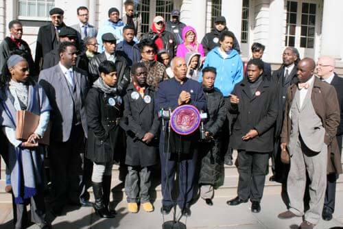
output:
{"label": "bald man in brown coat, gray suit and pale bow tie", "polygon": [[[287,177],[289,210],[279,218],[303,217],[300,228],[314,228],[324,205],[328,156],[338,149],[335,138],[340,124],[340,106],[333,86],[314,76],[311,58],[298,63],[298,83],[287,89],[281,150],[290,156]],[[328,147],[329,146],[329,147]],[[338,150],[337,150],[338,151]],[[328,154],[329,152],[329,154]],[[303,197],[309,175],[309,210],[304,212]]]}

